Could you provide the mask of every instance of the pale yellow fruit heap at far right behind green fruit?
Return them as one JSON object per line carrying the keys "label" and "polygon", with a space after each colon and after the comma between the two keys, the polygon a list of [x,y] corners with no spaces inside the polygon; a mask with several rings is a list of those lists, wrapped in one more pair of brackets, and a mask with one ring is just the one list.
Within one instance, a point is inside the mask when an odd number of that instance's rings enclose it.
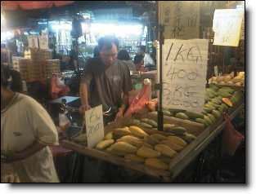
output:
{"label": "pale yellow fruit heap at far right behind green fruit", "polygon": [[245,72],[240,72],[236,77],[231,74],[209,78],[209,83],[225,86],[245,86]]}

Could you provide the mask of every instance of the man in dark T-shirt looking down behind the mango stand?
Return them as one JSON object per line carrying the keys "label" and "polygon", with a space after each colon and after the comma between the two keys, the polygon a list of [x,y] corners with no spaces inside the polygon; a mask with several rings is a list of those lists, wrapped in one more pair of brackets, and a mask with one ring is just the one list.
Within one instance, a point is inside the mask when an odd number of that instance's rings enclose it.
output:
{"label": "man in dark T-shirt looking down behind the mango stand", "polygon": [[80,85],[84,113],[102,104],[103,111],[111,110],[110,121],[123,117],[128,107],[128,92],[132,80],[128,66],[117,59],[119,42],[115,37],[101,37],[98,42],[99,57],[88,60]]}

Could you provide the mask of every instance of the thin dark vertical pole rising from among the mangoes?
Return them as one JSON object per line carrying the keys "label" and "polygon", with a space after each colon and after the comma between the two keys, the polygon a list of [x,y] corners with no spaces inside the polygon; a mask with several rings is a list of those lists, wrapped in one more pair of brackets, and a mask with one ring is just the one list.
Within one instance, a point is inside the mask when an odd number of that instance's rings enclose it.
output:
{"label": "thin dark vertical pole rising from among the mangoes", "polygon": [[158,109],[158,130],[163,130],[164,113],[163,113],[163,44],[164,44],[164,27],[160,24],[160,2],[157,1],[157,23],[158,23],[158,40],[159,40],[159,109]]}

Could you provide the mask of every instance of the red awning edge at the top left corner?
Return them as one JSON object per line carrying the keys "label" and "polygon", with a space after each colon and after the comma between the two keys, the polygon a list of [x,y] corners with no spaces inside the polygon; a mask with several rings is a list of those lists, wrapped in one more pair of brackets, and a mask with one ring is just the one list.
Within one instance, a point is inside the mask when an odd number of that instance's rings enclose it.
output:
{"label": "red awning edge at the top left corner", "polygon": [[74,1],[1,1],[3,10],[15,11],[17,9],[23,10],[37,10],[70,5]]}

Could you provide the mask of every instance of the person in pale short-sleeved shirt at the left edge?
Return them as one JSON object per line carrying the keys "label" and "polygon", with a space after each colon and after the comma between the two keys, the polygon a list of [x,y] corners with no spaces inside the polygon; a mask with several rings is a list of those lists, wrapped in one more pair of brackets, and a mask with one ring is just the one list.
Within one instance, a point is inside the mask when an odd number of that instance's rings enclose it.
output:
{"label": "person in pale short-sleeved shirt at the left edge", "polygon": [[8,89],[1,64],[1,162],[11,165],[21,183],[58,183],[49,145],[58,145],[47,111],[27,95]]}

